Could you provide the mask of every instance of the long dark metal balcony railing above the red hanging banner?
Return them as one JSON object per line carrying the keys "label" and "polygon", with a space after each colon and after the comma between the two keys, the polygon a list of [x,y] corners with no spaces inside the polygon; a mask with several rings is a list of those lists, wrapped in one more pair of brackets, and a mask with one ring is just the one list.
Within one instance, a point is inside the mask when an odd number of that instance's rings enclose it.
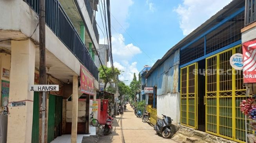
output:
{"label": "long dark metal balcony railing above the red hanging banner", "polygon": [[[39,0],[25,0],[39,14]],[[98,68],[58,0],[45,0],[45,23],[67,48],[98,79]]]}

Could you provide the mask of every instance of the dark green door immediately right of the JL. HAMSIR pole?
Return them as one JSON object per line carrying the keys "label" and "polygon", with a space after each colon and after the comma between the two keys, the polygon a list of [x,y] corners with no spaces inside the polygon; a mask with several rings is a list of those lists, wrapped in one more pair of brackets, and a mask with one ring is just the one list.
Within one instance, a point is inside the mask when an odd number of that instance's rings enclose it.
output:
{"label": "dark green door immediately right of the JL. HAMSIR pole", "polygon": [[49,95],[47,142],[54,139],[55,95]]}

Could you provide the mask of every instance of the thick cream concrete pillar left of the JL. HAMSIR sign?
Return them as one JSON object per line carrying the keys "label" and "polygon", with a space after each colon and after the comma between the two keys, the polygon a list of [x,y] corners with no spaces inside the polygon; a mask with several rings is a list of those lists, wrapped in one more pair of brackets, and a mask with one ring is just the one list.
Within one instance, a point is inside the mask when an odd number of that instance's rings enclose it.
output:
{"label": "thick cream concrete pillar left of the JL. HAMSIR sign", "polygon": [[9,104],[7,143],[31,143],[34,92],[28,88],[34,84],[35,49],[30,39],[11,41],[9,102],[25,100],[25,105]]}

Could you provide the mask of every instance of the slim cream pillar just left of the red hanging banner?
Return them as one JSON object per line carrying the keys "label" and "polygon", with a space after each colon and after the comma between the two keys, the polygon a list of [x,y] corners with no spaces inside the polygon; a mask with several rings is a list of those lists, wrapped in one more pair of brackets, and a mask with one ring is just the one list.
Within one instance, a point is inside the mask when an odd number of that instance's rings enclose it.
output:
{"label": "slim cream pillar just left of the red hanging banner", "polygon": [[72,94],[72,130],[71,143],[76,143],[77,137],[77,112],[78,112],[78,76],[73,76],[73,94]]}

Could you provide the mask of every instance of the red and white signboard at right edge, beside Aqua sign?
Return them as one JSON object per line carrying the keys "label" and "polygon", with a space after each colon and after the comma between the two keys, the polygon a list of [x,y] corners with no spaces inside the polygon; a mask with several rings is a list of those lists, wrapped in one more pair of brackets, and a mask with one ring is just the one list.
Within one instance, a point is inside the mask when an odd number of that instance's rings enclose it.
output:
{"label": "red and white signboard at right edge, beside Aqua sign", "polygon": [[256,82],[256,39],[243,43],[243,82]]}

